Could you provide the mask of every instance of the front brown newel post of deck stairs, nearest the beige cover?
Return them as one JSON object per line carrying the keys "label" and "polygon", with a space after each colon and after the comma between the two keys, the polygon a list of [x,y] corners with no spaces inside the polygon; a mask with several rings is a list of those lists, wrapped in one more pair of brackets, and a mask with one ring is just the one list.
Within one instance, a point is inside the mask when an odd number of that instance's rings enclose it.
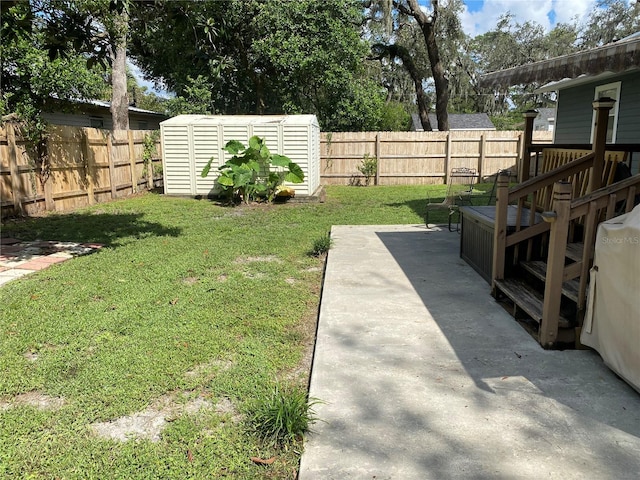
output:
{"label": "front brown newel post of deck stairs, nearest the beige cover", "polygon": [[542,322],[539,332],[539,341],[544,348],[551,348],[558,339],[560,300],[562,298],[562,281],[571,213],[571,191],[570,182],[557,182],[553,186],[553,211],[555,215],[549,217],[551,233],[549,236],[549,255],[547,256],[547,276],[544,284]]}

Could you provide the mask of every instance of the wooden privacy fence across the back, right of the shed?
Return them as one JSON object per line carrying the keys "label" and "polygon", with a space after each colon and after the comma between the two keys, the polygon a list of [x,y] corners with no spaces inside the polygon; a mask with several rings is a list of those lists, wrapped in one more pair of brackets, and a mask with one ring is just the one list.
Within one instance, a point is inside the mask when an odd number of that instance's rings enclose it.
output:
{"label": "wooden privacy fence across the back, right of the shed", "polygon": [[[534,132],[535,143],[552,143],[552,132]],[[320,180],[357,184],[365,156],[377,158],[377,185],[446,183],[452,168],[477,170],[487,179],[499,170],[517,173],[524,133],[519,131],[322,133]]]}

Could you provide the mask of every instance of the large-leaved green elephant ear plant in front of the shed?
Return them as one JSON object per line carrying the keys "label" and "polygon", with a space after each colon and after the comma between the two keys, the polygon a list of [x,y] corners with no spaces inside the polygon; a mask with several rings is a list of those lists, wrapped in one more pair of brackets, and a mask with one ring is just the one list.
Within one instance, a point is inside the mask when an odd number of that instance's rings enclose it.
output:
{"label": "large-leaved green elephant ear plant in front of the shed", "polygon": [[[218,167],[217,183],[230,202],[271,202],[285,181],[304,181],[300,166],[289,157],[271,153],[263,138],[251,137],[248,147],[238,140],[231,140],[224,150],[233,156]],[[202,169],[201,177],[209,174],[213,161],[214,157],[211,157]]]}

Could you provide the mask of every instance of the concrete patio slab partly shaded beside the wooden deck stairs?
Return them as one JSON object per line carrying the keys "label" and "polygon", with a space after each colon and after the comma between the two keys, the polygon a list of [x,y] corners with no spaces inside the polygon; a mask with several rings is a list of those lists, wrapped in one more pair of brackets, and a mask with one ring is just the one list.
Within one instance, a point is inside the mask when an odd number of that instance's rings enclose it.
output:
{"label": "concrete patio slab partly shaded beside the wooden deck stairs", "polygon": [[640,394],[544,351],[424,226],[332,230],[300,479],[637,479]]}

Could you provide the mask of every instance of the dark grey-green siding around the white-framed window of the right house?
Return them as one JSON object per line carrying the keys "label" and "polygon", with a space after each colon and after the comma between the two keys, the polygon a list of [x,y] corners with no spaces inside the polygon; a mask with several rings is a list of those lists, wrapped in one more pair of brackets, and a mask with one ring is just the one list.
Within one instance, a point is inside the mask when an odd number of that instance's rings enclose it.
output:
{"label": "dark grey-green siding around the white-framed window of the right house", "polygon": [[640,133],[640,72],[627,73],[597,82],[560,90],[555,143],[590,143],[595,88],[621,82],[616,143],[637,143]]}

